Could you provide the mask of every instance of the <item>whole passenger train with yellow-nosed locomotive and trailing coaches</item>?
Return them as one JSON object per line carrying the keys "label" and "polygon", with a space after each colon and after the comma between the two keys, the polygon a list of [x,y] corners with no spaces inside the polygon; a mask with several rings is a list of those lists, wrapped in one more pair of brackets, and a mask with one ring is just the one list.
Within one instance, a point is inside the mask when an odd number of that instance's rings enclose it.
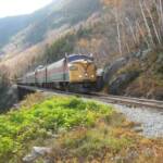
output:
{"label": "whole passenger train with yellow-nosed locomotive and trailing coaches", "polygon": [[52,64],[39,65],[18,78],[18,85],[63,90],[92,91],[97,86],[97,66],[92,54],[70,54]]}

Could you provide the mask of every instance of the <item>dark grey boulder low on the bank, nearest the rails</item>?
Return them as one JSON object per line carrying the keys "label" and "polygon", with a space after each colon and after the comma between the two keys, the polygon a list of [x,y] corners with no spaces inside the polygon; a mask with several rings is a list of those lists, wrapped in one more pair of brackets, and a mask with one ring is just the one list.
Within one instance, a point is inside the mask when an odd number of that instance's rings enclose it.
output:
{"label": "dark grey boulder low on the bank, nearest the rails", "polygon": [[112,95],[122,95],[122,90],[125,89],[129,83],[137,78],[139,72],[128,72],[121,74],[110,84],[109,92]]}

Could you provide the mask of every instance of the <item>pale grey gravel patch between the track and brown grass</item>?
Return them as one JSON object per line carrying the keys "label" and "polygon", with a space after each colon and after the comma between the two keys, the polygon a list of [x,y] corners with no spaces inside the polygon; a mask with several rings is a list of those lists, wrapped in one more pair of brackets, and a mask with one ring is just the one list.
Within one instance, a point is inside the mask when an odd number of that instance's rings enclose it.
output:
{"label": "pale grey gravel patch between the track and brown grass", "polygon": [[163,111],[147,108],[129,108],[113,104],[116,111],[124,113],[129,121],[140,123],[142,135],[147,137],[163,137]]}

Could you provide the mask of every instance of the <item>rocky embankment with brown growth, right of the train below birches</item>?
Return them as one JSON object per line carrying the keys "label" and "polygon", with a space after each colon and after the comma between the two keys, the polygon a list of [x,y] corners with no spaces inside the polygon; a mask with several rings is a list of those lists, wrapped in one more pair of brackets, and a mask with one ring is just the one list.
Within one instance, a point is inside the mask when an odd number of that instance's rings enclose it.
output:
{"label": "rocky embankment with brown growth, right of the train below birches", "polygon": [[163,100],[163,52],[141,51],[128,55],[106,66],[108,92]]}

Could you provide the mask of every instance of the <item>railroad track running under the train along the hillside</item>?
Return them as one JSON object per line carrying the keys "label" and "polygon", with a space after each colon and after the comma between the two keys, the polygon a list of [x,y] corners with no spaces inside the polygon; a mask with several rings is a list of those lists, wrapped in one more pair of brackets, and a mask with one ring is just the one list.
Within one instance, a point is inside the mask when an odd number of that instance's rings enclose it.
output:
{"label": "railroad track running under the train along the hillside", "polygon": [[140,108],[152,108],[152,109],[163,109],[163,101],[158,100],[149,100],[149,99],[140,99],[140,98],[131,98],[131,97],[122,97],[122,96],[109,96],[103,93],[77,93],[77,92],[67,92],[61,90],[52,90],[45,88],[36,88],[30,86],[18,86],[24,87],[26,89],[30,89],[33,91],[43,91],[50,93],[60,93],[66,96],[78,96],[88,99],[95,99],[98,101],[106,102],[106,103],[118,103],[129,106],[140,106]]}

